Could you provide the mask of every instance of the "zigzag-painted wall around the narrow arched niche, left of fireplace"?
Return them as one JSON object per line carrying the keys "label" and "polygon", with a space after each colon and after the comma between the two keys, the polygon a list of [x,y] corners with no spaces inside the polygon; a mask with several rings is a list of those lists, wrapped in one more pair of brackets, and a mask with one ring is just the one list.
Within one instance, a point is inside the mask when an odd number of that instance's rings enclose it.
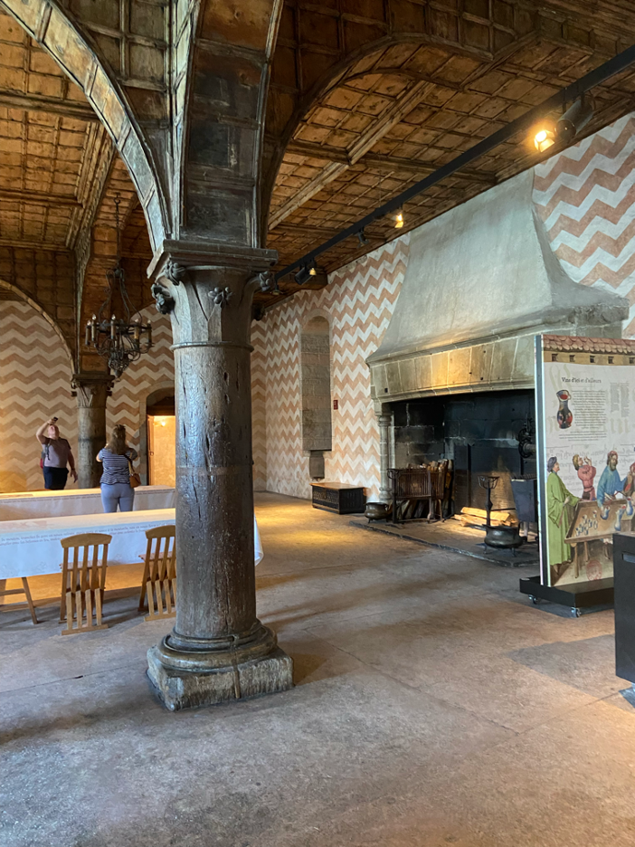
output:
{"label": "zigzag-painted wall around the narrow arched niche, left of fireplace", "polygon": [[[258,401],[253,395],[256,476],[266,473],[267,490],[310,497],[308,455],[302,452],[300,432],[299,336],[309,319],[321,315],[330,325],[331,393],[339,405],[331,413],[333,450],[325,453],[326,479],[364,485],[369,497],[378,494],[379,433],[365,359],[379,346],[393,314],[408,243],[404,235],[369,253],[336,271],[326,289],[303,291],[254,323],[251,343],[267,351],[259,366],[266,374],[264,422],[260,385]],[[259,459],[261,435],[256,450],[255,433],[263,426],[266,467]]]}

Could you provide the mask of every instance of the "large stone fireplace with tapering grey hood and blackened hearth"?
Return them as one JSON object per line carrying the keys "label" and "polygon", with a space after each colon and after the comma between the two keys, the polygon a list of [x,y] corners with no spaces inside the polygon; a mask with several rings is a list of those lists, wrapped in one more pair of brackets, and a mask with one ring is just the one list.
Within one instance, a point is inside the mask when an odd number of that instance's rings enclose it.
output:
{"label": "large stone fireplace with tapering grey hood and blackened hearth", "polygon": [[[579,285],[552,252],[526,172],[411,233],[393,318],[367,359],[387,468],[452,459],[455,509],[483,508],[479,475],[535,473],[517,434],[534,417],[534,337],[621,338],[628,301]],[[392,432],[391,432],[392,430]]]}

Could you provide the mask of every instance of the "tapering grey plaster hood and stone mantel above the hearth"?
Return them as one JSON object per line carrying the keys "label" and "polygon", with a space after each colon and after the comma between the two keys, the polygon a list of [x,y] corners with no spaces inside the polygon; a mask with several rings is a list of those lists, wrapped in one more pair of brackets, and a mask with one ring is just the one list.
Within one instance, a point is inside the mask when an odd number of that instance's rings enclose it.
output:
{"label": "tapering grey plaster hood and stone mantel above the hearth", "polygon": [[621,338],[629,303],[574,282],[532,202],[533,171],[414,230],[393,318],[366,359],[389,400],[534,385],[534,336]]}

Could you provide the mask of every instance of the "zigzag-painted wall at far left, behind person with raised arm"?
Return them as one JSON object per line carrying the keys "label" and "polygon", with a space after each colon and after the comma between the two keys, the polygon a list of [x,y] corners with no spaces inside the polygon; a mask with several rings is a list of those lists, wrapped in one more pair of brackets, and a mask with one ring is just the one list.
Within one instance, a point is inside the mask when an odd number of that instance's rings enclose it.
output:
{"label": "zigzag-painted wall at far left, behind person with raised arm", "polygon": [[0,493],[44,488],[35,431],[52,416],[77,451],[71,359],[60,337],[28,303],[0,300]]}

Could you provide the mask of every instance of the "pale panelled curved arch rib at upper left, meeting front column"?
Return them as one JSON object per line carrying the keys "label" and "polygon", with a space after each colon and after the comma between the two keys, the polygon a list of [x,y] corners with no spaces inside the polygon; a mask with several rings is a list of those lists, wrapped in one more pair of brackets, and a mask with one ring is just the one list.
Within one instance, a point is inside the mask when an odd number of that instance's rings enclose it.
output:
{"label": "pale panelled curved arch rib at upper left, meeting front column", "polygon": [[153,249],[170,233],[166,196],[156,163],[108,63],[100,58],[90,36],[54,0],[0,0],[0,7],[48,52],[83,91],[90,106],[113,138],[137,188]]}

